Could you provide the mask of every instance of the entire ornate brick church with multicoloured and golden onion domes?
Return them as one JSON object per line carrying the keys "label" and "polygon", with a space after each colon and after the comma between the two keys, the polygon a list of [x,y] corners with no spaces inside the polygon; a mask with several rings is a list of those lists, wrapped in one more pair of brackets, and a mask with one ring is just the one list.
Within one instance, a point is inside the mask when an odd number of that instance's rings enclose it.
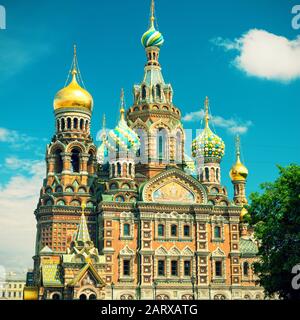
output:
{"label": "entire ornate brick church with multicoloured and golden onion domes", "polygon": [[234,199],[221,182],[223,140],[209,125],[185,154],[173,89],[159,63],[162,34],[142,37],[144,78],[98,147],[90,135],[93,99],[76,48],[70,83],[54,99],[56,132],[35,216],[28,299],[262,299],[251,265],[257,244],[247,213],[248,171],[237,159]]}

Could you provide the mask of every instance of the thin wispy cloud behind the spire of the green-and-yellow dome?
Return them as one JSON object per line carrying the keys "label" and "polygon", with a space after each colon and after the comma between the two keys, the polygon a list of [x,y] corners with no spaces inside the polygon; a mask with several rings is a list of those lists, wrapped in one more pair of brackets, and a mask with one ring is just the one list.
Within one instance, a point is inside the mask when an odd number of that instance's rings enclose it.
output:
{"label": "thin wispy cloud behind the spire of the green-and-yellow dome", "polygon": [[[195,122],[204,118],[204,110],[187,113],[182,120],[185,122]],[[249,127],[252,126],[251,121],[242,121],[239,119],[225,119],[220,116],[212,116],[211,123],[219,128],[226,129],[232,134],[244,134],[248,131]]]}

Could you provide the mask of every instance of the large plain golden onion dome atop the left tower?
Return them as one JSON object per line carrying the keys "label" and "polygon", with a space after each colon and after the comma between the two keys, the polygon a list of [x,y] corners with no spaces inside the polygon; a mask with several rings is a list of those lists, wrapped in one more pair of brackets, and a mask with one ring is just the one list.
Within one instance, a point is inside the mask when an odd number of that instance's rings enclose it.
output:
{"label": "large plain golden onion dome atop the left tower", "polygon": [[75,108],[93,110],[93,98],[77,82],[77,70],[72,71],[72,81],[63,89],[58,91],[54,98],[54,110]]}

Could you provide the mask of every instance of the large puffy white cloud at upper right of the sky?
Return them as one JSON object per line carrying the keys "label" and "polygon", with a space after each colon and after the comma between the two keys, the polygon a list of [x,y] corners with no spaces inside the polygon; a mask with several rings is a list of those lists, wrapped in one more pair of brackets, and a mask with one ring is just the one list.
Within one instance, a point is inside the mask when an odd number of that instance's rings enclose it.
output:
{"label": "large puffy white cloud at upper right of the sky", "polygon": [[251,29],[233,41],[220,37],[212,41],[226,51],[238,51],[233,64],[250,76],[281,82],[300,78],[300,36],[289,40]]}

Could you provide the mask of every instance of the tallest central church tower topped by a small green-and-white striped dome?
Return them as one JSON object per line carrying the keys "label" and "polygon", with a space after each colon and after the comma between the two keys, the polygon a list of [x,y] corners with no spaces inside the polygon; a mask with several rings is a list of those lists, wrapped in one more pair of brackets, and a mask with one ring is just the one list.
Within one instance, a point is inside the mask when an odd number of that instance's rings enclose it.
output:
{"label": "tallest central church tower topped by a small green-and-white striped dome", "polygon": [[150,178],[169,165],[182,167],[184,162],[181,112],[173,104],[172,86],[165,83],[159,63],[164,38],[157,30],[154,0],[150,26],[141,41],[147,62],[142,82],[133,88],[134,103],[127,112],[127,120],[141,141],[135,160],[137,172]]}

